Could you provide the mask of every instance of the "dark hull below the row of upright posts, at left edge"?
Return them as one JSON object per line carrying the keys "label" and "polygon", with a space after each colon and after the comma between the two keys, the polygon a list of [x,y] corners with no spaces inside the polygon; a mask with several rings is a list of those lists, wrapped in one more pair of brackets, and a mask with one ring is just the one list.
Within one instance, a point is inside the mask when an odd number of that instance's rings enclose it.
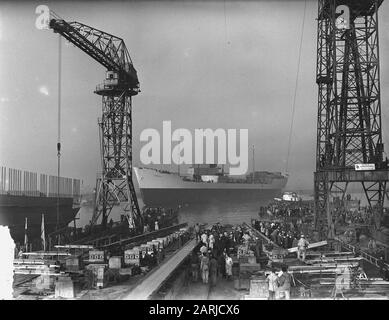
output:
{"label": "dark hull below the row of upright posts, at left edge", "polygon": [[[59,226],[68,225],[79,209],[73,207],[72,198],[60,198]],[[9,227],[15,242],[24,242],[26,218],[29,241],[40,238],[42,214],[45,216],[47,235],[55,230],[57,224],[57,198],[0,195],[0,225]]]}

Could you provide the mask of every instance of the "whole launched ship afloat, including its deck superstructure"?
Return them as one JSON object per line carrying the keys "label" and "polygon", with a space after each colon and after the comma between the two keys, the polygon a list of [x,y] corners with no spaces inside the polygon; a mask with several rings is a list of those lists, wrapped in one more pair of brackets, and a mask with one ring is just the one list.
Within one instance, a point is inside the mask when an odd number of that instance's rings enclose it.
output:
{"label": "whole launched ship afloat, including its deck superstructure", "polygon": [[186,175],[134,167],[142,200],[147,206],[241,202],[282,195],[288,177],[280,172],[255,171],[229,176],[216,164],[196,165]]}

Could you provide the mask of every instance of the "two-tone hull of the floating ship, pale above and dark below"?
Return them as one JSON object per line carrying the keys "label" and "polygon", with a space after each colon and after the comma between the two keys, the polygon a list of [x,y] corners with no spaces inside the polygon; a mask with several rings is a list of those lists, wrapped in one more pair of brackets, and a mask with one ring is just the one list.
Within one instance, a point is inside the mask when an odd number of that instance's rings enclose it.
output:
{"label": "two-tone hull of the floating ship, pale above and dark below", "polygon": [[271,184],[202,183],[182,179],[175,173],[134,168],[142,200],[147,206],[186,204],[233,204],[280,197],[286,179]]}

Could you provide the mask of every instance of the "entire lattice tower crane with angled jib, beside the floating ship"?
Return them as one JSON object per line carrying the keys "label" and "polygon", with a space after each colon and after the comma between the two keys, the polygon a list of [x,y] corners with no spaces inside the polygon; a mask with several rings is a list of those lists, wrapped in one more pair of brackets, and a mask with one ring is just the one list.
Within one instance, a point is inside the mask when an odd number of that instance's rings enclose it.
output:
{"label": "entire lattice tower crane with angled jib, beside the floating ship", "polygon": [[106,69],[95,93],[102,97],[99,119],[102,174],[97,178],[92,224],[102,225],[115,205],[125,203],[130,227],[139,227],[141,214],[132,181],[132,97],[139,81],[123,39],[79,22],[66,22],[51,13],[49,27]]}

